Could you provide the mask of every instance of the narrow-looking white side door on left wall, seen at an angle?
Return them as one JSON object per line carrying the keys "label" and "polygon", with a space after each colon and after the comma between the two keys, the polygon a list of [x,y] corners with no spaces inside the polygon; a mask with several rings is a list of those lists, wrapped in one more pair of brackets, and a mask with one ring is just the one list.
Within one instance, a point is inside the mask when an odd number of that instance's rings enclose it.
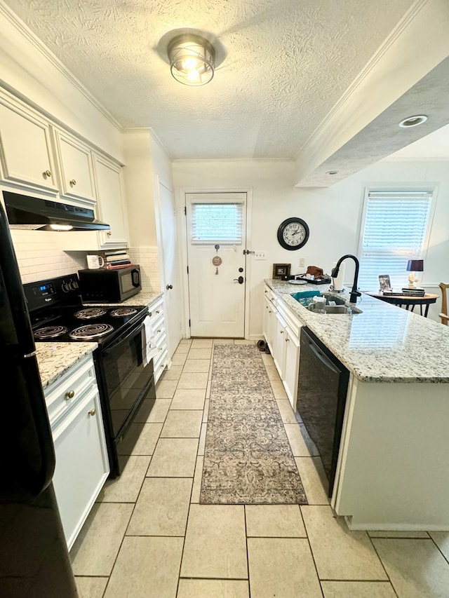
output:
{"label": "narrow-looking white side door on left wall, seen at an angle", "polygon": [[162,246],[161,287],[165,299],[168,355],[171,357],[181,340],[181,285],[177,259],[175,197],[159,182],[159,221]]}

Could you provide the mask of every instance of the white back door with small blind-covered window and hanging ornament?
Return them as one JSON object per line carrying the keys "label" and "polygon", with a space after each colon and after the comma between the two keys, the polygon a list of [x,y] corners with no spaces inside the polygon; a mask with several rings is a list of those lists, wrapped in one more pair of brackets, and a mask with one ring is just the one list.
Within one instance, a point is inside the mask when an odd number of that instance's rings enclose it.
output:
{"label": "white back door with small blind-covered window and hanging ornament", "polygon": [[246,193],[186,193],[190,334],[245,337]]}

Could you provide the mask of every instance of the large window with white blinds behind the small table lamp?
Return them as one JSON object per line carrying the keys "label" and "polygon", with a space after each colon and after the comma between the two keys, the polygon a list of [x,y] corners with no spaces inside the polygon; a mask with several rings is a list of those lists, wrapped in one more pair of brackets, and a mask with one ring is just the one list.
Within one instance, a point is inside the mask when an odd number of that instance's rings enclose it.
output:
{"label": "large window with white blinds behind the small table lamp", "polygon": [[407,262],[422,259],[425,249],[432,197],[431,191],[368,192],[359,252],[361,290],[378,290],[382,274],[389,275],[394,290],[407,285]]}

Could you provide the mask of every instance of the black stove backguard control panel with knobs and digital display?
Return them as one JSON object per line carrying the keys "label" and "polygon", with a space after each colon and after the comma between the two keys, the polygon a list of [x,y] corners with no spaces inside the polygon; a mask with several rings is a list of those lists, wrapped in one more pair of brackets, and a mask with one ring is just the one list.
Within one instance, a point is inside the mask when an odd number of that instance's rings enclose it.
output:
{"label": "black stove backguard control panel with knobs and digital display", "polygon": [[29,311],[48,305],[59,305],[79,300],[79,280],[77,274],[67,274],[36,283],[23,285]]}

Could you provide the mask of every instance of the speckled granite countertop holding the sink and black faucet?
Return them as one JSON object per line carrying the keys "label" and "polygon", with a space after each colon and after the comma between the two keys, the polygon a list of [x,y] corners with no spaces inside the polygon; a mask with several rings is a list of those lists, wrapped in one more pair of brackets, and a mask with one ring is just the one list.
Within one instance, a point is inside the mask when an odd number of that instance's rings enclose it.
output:
{"label": "speckled granite countertop holding the sink and black faucet", "polygon": [[[448,326],[366,294],[356,303],[362,313],[313,313],[291,294],[309,290],[331,294],[329,285],[291,285],[273,279],[265,283],[357,379],[449,382]],[[337,296],[349,304],[347,287]]]}

